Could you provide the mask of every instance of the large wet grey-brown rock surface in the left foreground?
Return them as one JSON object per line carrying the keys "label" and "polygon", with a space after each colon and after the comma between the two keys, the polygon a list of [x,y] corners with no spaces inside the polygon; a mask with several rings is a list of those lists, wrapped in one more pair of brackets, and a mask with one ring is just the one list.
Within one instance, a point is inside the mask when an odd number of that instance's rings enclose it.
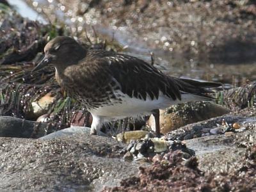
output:
{"label": "large wet grey-brown rock surface in the left foreground", "polygon": [[92,191],[138,172],[111,138],[73,134],[48,140],[0,138],[0,191]]}

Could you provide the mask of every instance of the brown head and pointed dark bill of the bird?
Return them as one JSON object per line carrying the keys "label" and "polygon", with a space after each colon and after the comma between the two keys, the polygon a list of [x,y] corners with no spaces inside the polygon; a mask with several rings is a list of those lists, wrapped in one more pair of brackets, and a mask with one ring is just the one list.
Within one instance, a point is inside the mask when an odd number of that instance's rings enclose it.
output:
{"label": "brown head and pointed dark bill of the bird", "polygon": [[86,56],[86,49],[73,38],[57,36],[45,45],[44,53],[44,58],[33,68],[31,73],[47,65],[62,69],[74,65]]}

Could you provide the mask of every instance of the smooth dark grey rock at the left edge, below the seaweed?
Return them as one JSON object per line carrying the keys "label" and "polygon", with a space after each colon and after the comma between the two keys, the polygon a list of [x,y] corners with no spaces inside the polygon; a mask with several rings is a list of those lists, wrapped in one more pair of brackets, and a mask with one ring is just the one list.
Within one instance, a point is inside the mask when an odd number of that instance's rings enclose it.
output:
{"label": "smooth dark grey rock at the left edge, below the seaweed", "polygon": [[47,133],[47,124],[12,116],[0,116],[0,137],[40,138]]}

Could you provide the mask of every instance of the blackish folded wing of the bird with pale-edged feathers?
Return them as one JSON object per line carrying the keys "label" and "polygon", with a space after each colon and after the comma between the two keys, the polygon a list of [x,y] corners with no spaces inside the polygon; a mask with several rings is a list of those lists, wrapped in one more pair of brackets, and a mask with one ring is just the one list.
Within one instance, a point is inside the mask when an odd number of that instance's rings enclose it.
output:
{"label": "blackish folded wing of the bird with pale-edged feathers", "polygon": [[179,84],[175,77],[164,75],[157,68],[143,60],[125,54],[109,54],[100,60],[108,66],[108,71],[113,76],[123,93],[129,97],[153,100],[158,99],[159,92],[172,98],[181,99]]}

